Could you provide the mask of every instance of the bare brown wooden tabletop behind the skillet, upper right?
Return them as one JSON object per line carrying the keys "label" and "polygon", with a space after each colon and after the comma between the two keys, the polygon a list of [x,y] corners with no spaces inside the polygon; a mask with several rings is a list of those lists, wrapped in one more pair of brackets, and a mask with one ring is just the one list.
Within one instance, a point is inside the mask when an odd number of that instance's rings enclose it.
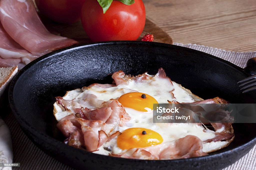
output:
{"label": "bare brown wooden tabletop behind the skillet, upper right", "polygon": [[143,0],[173,42],[256,51],[256,0]]}

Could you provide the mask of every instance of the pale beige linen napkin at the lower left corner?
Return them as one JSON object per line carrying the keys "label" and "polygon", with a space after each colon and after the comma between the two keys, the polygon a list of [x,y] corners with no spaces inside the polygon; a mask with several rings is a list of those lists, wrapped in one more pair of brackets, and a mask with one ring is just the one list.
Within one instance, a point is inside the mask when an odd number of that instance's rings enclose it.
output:
{"label": "pale beige linen napkin at the lower left corner", "polygon": [[[12,139],[9,128],[0,117],[0,163],[13,162]],[[0,170],[12,170],[12,167],[0,167]]]}

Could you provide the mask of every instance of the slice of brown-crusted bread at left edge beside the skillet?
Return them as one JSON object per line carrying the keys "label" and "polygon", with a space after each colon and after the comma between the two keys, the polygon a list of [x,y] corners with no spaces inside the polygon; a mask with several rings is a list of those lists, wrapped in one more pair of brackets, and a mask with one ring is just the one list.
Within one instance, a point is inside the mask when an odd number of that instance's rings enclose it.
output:
{"label": "slice of brown-crusted bread at left edge beside the skillet", "polygon": [[0,68],[0,97],[3,95],[6,87],[11,82],[12,78],[18,72],[18,66]]}

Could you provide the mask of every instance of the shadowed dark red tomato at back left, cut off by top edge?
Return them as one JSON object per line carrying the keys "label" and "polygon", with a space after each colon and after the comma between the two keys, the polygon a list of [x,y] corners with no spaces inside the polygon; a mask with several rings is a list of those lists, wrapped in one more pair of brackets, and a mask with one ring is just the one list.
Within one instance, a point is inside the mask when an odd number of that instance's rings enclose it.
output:
{"label": "shadowed dark red tomato at back left, cut off by top edge", "polygon": [[[85,0],[35,0],[41,14],[53,21],[73,23],[80,18]],[[97,0],[96,0],[97,1]]]}

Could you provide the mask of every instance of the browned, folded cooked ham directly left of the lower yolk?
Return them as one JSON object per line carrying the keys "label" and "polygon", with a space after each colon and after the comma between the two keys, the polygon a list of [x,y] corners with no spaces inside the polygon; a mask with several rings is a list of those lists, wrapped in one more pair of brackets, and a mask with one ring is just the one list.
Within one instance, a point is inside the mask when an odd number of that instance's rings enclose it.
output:
{"label": "browned, folded cooked ham directly left of the lower yolk", "polygon": [[120,134],[119,131],[112,133],[113,125],[99,120],[76,118],[72,115],[62,119],[57,127],[68,137],[65,143],[75,147],[83,147],[90,152],[96,151],[103,143]]}

